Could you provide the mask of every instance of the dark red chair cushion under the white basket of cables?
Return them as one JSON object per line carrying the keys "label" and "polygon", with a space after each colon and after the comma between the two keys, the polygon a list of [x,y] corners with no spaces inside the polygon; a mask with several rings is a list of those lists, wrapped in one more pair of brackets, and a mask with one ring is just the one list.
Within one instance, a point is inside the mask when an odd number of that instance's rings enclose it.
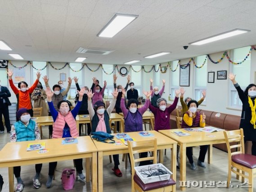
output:
{"label": "dark red chair cushion under the white basket of cables", "polygon": [[137,183],[143,191],[149,191],[152,189],[163,188],[166,186],[176,184],[176,182],[173,179],[144,184],[143,181],[139,178],[139,176],[136,173],[134,174],[133,179],[134,179],[134,182]]}

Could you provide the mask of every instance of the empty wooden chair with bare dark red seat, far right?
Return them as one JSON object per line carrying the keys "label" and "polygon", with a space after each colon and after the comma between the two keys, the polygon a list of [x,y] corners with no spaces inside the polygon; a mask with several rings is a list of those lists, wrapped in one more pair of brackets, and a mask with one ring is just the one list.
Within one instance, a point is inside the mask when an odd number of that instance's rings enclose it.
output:
{"label": "empty wooden chair with bare dark red seat, far right", "polygon": [[253,192],[253,179],[256,177],[256,156],[244,153],[243,129],[224,131],[224,136],[229,156],[227,188],[229,188],[232,171],[237,175],[238,180],[242,176],[242,183],[244,183],[244,178],[247,178],[251,185],[248,188],[249,192]]}

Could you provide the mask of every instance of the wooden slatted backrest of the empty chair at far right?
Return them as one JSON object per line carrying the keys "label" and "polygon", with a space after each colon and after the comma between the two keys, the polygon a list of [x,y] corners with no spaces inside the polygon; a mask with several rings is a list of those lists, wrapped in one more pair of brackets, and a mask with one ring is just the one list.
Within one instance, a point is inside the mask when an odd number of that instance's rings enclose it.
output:
{"label": "wooden slatted backrest of the empty chair at far right", "polygon": [[232,155],[244,153],[243,129],[224,131],[224,136],[231,162]]}

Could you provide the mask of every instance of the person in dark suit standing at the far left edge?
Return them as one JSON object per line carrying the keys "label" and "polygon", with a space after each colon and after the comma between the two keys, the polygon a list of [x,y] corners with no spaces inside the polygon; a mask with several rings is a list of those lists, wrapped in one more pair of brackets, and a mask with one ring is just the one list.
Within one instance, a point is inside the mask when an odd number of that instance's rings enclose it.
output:
{"label": "person in dark suit standing at the far left edge", "polygon": [[11,97],[11,93],[7,87],[1,85],[0,80],[0,134],[4,133],[4,124],[2,118],[4,116],[5,126],[7,129],[7,133],[11,131],[11,124],[9,118],[9,106],[11,106],[11,102],[9,101],[9,97]]}

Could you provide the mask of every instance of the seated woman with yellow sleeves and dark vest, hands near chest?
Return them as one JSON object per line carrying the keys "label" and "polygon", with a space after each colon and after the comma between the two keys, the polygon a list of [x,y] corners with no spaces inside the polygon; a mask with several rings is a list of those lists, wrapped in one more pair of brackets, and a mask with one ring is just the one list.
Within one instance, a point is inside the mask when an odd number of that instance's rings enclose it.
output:
{"label": "seated woman with yellow sleeves and dark vest, hands near chest", "polygon": [[[191,100],[188,103],[189,110],[183,114],[181,128],[189,128],[189,127],[205,127],[205,114],[202,115],[197,112],[198,102],[195,100]],[[198,166],[205,168],[206,165],[204,163],[205,155],[207,153],[208,145],[201,145],[200,152],[198,157]],[[187,147],[186,155],[189,159],[190,168],[192,170],[196,169],[196,166],[193,161],[192,147]]]}

